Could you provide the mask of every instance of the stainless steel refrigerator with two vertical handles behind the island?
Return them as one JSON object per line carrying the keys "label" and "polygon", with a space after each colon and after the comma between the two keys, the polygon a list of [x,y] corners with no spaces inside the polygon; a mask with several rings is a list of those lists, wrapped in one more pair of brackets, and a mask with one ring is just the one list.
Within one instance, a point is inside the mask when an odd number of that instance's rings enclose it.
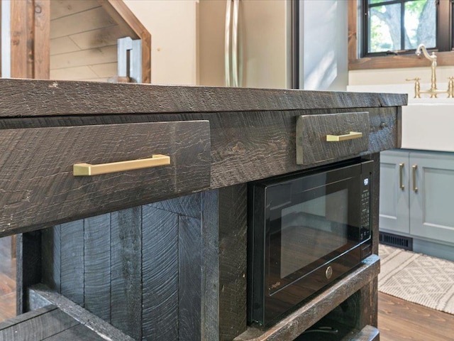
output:
{"label": "stainless steel refrigerator with two vertical handles behind the island", "polygon": [[298,87],[297,6],[292,0],[199,0],[198,84]]}

